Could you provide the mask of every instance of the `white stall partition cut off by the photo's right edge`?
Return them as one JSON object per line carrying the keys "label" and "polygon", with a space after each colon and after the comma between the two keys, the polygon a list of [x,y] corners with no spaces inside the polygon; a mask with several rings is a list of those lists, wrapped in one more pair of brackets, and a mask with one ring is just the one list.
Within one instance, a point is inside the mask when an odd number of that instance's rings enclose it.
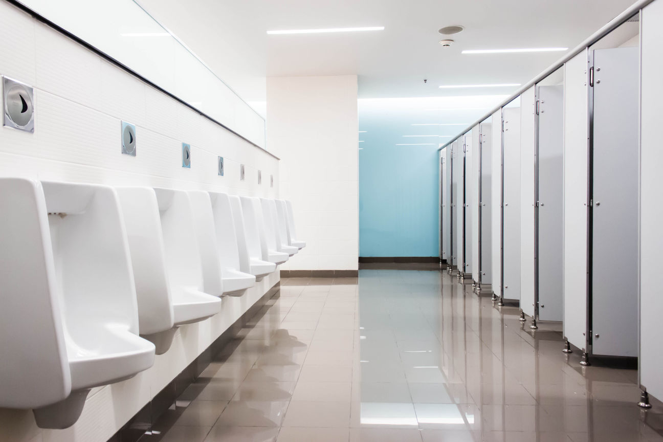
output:
{"label": "white stall partition cut off by the photo's right edge", "polygon": [[663,0],[656,0],[642,9],[642,91],[640,98],[640,385],[656,398],[663,398],[663,327],[660,312],[660,269],[663,265],[663,204],[660,199],[660,117],[663,114]]}

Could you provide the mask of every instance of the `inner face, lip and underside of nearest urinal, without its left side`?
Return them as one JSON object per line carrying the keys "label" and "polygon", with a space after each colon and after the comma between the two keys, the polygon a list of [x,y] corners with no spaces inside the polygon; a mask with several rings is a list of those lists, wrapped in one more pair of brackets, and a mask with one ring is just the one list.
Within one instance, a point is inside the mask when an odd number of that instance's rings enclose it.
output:
{"label": "inner face, lip and underside of nearest urinal, without its left side", "polygon": [[135,376],[154,362],[138,336],[136,293],[117,195],[107,186],[42,183],[71,373],[68,398],[33,410],[37,425],[76,422],[91,388]]}

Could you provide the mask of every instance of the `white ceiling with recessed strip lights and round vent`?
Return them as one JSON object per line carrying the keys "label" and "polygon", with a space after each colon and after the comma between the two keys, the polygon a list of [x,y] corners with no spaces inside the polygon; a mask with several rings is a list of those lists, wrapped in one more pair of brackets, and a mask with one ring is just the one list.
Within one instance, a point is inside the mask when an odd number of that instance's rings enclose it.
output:
{"label": "white ceiling with recessed strip lights and round vent", "polygon": [[[564,52],[461,54],[463,49],[577,46],[633,0],[136,0],[259,111],[268,76],[357,74],[359,98],[509,95]],[[462,25],[451,48],[438,29]],[[267,30],[384,26],[335,34]],[[424,79],[428,80],[424,83]]]}

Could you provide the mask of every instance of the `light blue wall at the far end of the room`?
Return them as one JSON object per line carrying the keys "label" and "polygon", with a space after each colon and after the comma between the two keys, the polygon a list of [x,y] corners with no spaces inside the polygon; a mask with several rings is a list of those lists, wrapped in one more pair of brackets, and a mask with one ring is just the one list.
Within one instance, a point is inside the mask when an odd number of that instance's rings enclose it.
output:
{"label": "light blue wall at the far end of the room", "polygon": [[362,135],[359,256],[439,256],[438,146],[395,146],[400,137],[393,134]]}

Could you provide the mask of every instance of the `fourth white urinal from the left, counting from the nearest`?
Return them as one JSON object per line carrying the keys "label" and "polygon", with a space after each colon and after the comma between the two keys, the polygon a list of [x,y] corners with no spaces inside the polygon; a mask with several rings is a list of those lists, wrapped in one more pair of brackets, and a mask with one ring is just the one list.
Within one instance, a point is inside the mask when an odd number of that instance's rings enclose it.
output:
{"label": "fourth white urinal from the left, counting from the nearest", "polygon": [[241,267],[239,270],[250,273],[255,276],[257,281],[276,270],[276,264],[263,260],[263,249],[260,243],[260,235],[255,221],[253,221],[253,211],[251,215],[244,213],[242,202],[239,196],[229,195],[230,207],[233,211],[233,221],[237,229],[237,246],[239,249],[239,262],[243,265],[243,253],[248,256],[249,267]]}

